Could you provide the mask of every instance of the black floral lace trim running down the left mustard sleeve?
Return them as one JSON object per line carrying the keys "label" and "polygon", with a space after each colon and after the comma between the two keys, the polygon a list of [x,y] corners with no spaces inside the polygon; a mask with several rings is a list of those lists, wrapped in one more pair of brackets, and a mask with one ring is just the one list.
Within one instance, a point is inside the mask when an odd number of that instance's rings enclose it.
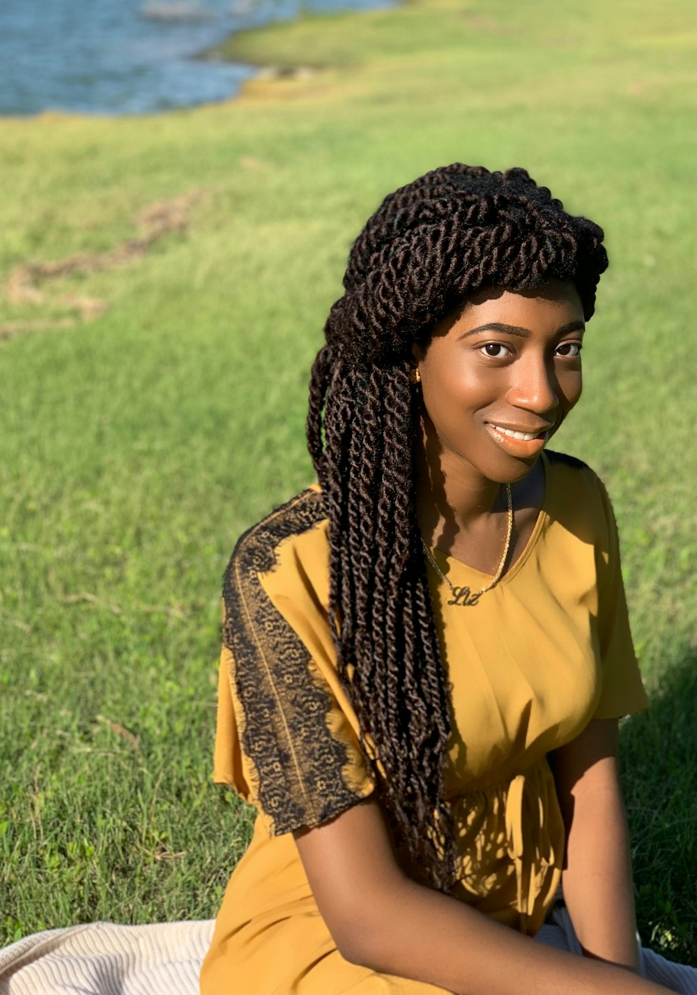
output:
{"label": "black floral lace trim running down the left mustard sleeve", "polygon": [[323,498],[315,491],[276,508],[241,537],[223,583],[223,638],[235,659],[245,713],[242,746],[257,768],[259,802],[274,835],[320,825],[360,800],[342,775],[351,762],[347,747],[327,726],[336,705],[313,677],[304,644],[259,581],[259,574],[275,568],[283,539],[325,518]]}

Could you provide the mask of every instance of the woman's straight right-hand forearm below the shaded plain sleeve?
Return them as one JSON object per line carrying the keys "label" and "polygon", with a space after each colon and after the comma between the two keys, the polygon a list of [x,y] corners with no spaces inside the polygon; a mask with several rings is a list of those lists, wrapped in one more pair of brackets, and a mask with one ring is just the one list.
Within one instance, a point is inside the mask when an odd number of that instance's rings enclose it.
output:
{"label": "woman's straight right-hand forearm below the shaded plain sleeve", "polygon": [[636,970],[629,838],[617,720],[597,719],[550,756],[567,831],[564,898],[587,955]]}

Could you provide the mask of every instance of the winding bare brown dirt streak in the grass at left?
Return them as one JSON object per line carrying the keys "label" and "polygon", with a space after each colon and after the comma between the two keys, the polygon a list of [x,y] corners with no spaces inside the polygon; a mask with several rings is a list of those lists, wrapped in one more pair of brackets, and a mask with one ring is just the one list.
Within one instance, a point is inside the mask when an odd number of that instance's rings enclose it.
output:
{"label": "winding bare brown dirt streak in the grass at left", "polygon": [[76,294],[52,296],[46,285],[59,278],[85,276],[119,270],[137,263],[159,239],[174,232],[185,231],[193,207],[205,198],[202,190],[189,190],[173,200],[155,201],[144,208],[134,219],[135,238],[121,242],[103,253],[78,253],[67,259],[50,263],[32,263],[14,269],[3,285],[5,298],[11,304],[47,303],[67,307],[73,314],[59,318],[7,321],[0,324],[0,338],[11,338],[24,331],[58,330],[73,328],[85,321],[92,321],[108,309],[108,301],[87,298]]}

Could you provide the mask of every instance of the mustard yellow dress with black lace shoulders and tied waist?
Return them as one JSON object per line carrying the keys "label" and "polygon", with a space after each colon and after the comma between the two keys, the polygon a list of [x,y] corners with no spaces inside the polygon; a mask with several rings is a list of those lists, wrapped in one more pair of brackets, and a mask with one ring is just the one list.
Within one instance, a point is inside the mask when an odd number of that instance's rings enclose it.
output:
{"label": "mustard yellow dress with black lace shoulders and tied waist", "polygon": [[[445,772],[459,855],[453,894],[535,933],[561,878],[564,827],[546,755],[590,719],[641,708],[603,484],[543,454],[545,496],[527,546],[476,606],[447,604],[429,568],[451,685]],[[488,576],[438,550],[455,585]],[[291,831],[366,798],[374,783],[337,679],[327,624],[327,520],[318,488],[238,543],[220,670],[214,778],[259,809],[201,973],[202,995],[436,995],[344,960],[319,914]]]}

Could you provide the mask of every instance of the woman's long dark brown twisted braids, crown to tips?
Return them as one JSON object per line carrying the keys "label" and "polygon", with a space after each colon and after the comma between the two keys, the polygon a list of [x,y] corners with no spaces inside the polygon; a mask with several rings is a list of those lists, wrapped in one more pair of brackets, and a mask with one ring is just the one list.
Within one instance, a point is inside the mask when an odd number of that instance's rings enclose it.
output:
{"label": "woman's long dark brown twisted braids, crown to tips", "polygon": [[572,281],[590,318],[608,266],[602,241],[524,169],[436,169],[386,197],[357,238],[312,367],[307,440],[329,518],[337,669],[396,842],[441,891],[455,874],[450,721],[416,515],[412,347],[487,287]]}

